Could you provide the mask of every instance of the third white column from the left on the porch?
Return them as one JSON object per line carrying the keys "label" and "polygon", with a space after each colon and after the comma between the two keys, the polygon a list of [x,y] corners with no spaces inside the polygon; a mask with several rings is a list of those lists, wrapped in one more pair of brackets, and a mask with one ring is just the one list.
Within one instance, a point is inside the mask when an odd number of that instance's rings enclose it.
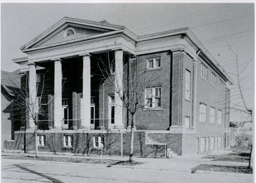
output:
{"label": "third white column from the left on the porch", "polygon": [[83,56],[83,122],[82,129],[91,129],[91,59]]}

